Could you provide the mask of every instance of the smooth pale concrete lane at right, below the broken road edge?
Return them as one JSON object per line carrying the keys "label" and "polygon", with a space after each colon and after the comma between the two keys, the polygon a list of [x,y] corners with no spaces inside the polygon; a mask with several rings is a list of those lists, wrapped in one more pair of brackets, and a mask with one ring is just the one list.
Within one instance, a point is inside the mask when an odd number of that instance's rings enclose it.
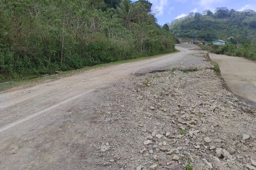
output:
{"label": "smooth pale concrete lane at right, below the broken road edge", "polygon": [[217,54],[210,54],[210,57],[219,64],[222,77],[230,90],[256,103],[256,62]]}

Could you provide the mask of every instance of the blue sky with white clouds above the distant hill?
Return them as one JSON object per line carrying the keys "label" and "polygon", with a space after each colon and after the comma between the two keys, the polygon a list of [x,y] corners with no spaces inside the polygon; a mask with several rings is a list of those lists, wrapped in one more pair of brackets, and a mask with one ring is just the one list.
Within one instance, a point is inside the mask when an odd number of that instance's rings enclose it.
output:
{"label": "blue sky with white clouds above the distant hill", "polygon": [[[136,1],[136,0],[133,0]],[[153,3],[153,13],[156,14],[159,25],[171,23],[172,20],[188,15],[190,12],[202,13],[206,9],[213,12],[217,7],[227,7],[243,11],[256,11],[256,0],[148,0]]]}

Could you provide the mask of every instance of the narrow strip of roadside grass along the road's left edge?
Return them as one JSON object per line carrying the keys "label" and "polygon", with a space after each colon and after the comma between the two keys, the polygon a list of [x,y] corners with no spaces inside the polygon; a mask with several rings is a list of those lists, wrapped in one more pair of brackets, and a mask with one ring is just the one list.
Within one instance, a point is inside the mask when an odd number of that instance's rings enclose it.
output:
{"label": "narrow strip of roadside grass along the road's left edge", "polygon": [[[176,50],[173,53],[177,53],[177,52],[179,52],[179,50]],[[148,57],[139,57],[139,58],[128,59],[128,60],[120,60],[118,62],[105,63],[105,64],[99,64],[99,65],[90,66],[90,67],[84,67],[84,68],[76,69],[76,70],[64,71],[64,72],[60,72],[59,74],[46,76],[46,77],[36,77],[36,78],[33,76],[25,77],[21,80],[14,80],[14,81],[0,83],[0,92],[4,91],[4,90],[11,89],[11,88],[19,87],[19,86],[29,86],[29,85],[33,85],[33,84],[46,82],[46,81],[54,81],[54,80],[57,80],[57,79],[60,79],[63,77],[69,77],[69,76],[76,75],[76,74],[79,74],[79,73],[82,73],[82,72],[85,72],[88,70],[92,70],[92,69],[121,65],[121,64],[125,64],[125,63],[133,63],[133,62],[138,62],[140,60],[157,58],[157,57],[161,57],[161,56],[165,56],[165,55],[173,54],[173,53],[159,54],[159,55],[148,56]]]}

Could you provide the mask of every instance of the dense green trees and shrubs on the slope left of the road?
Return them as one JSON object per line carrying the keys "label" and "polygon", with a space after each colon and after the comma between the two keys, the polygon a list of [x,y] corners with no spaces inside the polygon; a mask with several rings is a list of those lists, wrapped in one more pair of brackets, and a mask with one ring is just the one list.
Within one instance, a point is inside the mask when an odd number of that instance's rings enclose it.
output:
{"label": "dense green trees and shrubs on the slope left of the road", "polygon": [[174,51],[146,0],[0,2],[0,82]]}

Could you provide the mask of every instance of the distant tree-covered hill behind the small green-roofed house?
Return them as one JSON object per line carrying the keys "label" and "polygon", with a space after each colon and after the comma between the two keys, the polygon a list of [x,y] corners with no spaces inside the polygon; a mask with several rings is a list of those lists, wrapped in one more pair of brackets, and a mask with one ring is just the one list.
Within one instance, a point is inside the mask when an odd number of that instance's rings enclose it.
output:
{"label": "distant tree-covered hill behind the small green-roofed house", "polygon": [[170,30],[178,37],[192,38],[195,33],[205,41],[228,41],[229,37],[234,37],[237,43],[256,43],[256,13],[253,10],[235,11],[225,7],[217,8],[214,14],[210,10],[203,14],[190,13],[174,20]]}

